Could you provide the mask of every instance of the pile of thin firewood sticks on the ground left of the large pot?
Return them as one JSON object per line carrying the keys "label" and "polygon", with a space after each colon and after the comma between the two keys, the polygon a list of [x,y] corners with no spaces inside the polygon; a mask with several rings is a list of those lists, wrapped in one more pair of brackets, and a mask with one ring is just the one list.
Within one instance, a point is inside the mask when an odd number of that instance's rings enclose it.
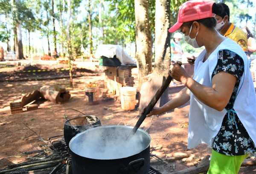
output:
{"label": "pile of thin firewood sticks on the ground left of the large pot", "polygon": [[70,168],[71,154],[63,136],[50,137],[49,142],[49,148],[24,152],[24,155],[35,155],[28,157],[25,162],[9,165],[0,170],[0,174],[66,174],[66,168]]}

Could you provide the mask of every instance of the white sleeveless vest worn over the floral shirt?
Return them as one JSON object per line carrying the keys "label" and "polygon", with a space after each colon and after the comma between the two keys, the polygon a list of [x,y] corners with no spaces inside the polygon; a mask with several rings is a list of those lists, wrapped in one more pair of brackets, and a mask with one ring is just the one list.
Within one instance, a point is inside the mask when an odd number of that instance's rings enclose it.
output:
{"label": "white sleeveless vest worn over the floral shirt", "polygon": [[[236,52],[244,61],[244,74],[241,77],[239,92],[233,108],[254,144],[256,144],[256,93],[248,67],[247,56],[241,47],[234,41],[226,38],[205,62],[203,60],[206,50],[202,51],[195,60],[193,78],[202,85],[212,87],[212,73],[217,65],[218,52],[221,49]],[[220,130],[226,113],[227,110],[225,109],[220,112],[203,104],[191,93],[188,148],[194,148],[201,143],[212,146],[212,140]]]}

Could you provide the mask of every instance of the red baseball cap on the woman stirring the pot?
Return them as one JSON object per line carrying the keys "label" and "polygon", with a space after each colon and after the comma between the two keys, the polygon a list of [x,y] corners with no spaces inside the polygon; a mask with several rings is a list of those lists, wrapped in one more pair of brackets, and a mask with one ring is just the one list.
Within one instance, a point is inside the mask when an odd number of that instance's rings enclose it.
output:
{"label": "red baseball cap on the woman stirring the pot", "polygon": [[189,0],[180,6],[177,22],[168,30],[175,32],[184,22],[215,17],[212,13],[212,0]]}

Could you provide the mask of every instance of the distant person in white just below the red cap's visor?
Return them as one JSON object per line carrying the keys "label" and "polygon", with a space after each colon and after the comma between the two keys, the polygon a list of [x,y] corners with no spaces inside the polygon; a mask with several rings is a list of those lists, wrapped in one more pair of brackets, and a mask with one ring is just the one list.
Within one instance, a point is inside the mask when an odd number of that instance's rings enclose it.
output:
{"label": "distant person in white just below the red cap's visor", "polygon": [[182,34],[176,32],[173,35],[173,42],[171,43],[171,60],[172,61],[181,61],[183,56],[183,49],[180,45],[180,40],[182,39]]}

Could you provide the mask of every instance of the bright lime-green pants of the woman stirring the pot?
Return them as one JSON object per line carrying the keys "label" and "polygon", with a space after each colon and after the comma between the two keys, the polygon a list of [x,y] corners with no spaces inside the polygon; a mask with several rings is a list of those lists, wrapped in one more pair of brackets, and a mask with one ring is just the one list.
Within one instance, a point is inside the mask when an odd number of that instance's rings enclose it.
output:
{"label": "bright lime-green pants of the woman stirring the pot", "polygon": [[212,158],[207,174],[238,174],[246,155],[226,156],[212,150]]}

